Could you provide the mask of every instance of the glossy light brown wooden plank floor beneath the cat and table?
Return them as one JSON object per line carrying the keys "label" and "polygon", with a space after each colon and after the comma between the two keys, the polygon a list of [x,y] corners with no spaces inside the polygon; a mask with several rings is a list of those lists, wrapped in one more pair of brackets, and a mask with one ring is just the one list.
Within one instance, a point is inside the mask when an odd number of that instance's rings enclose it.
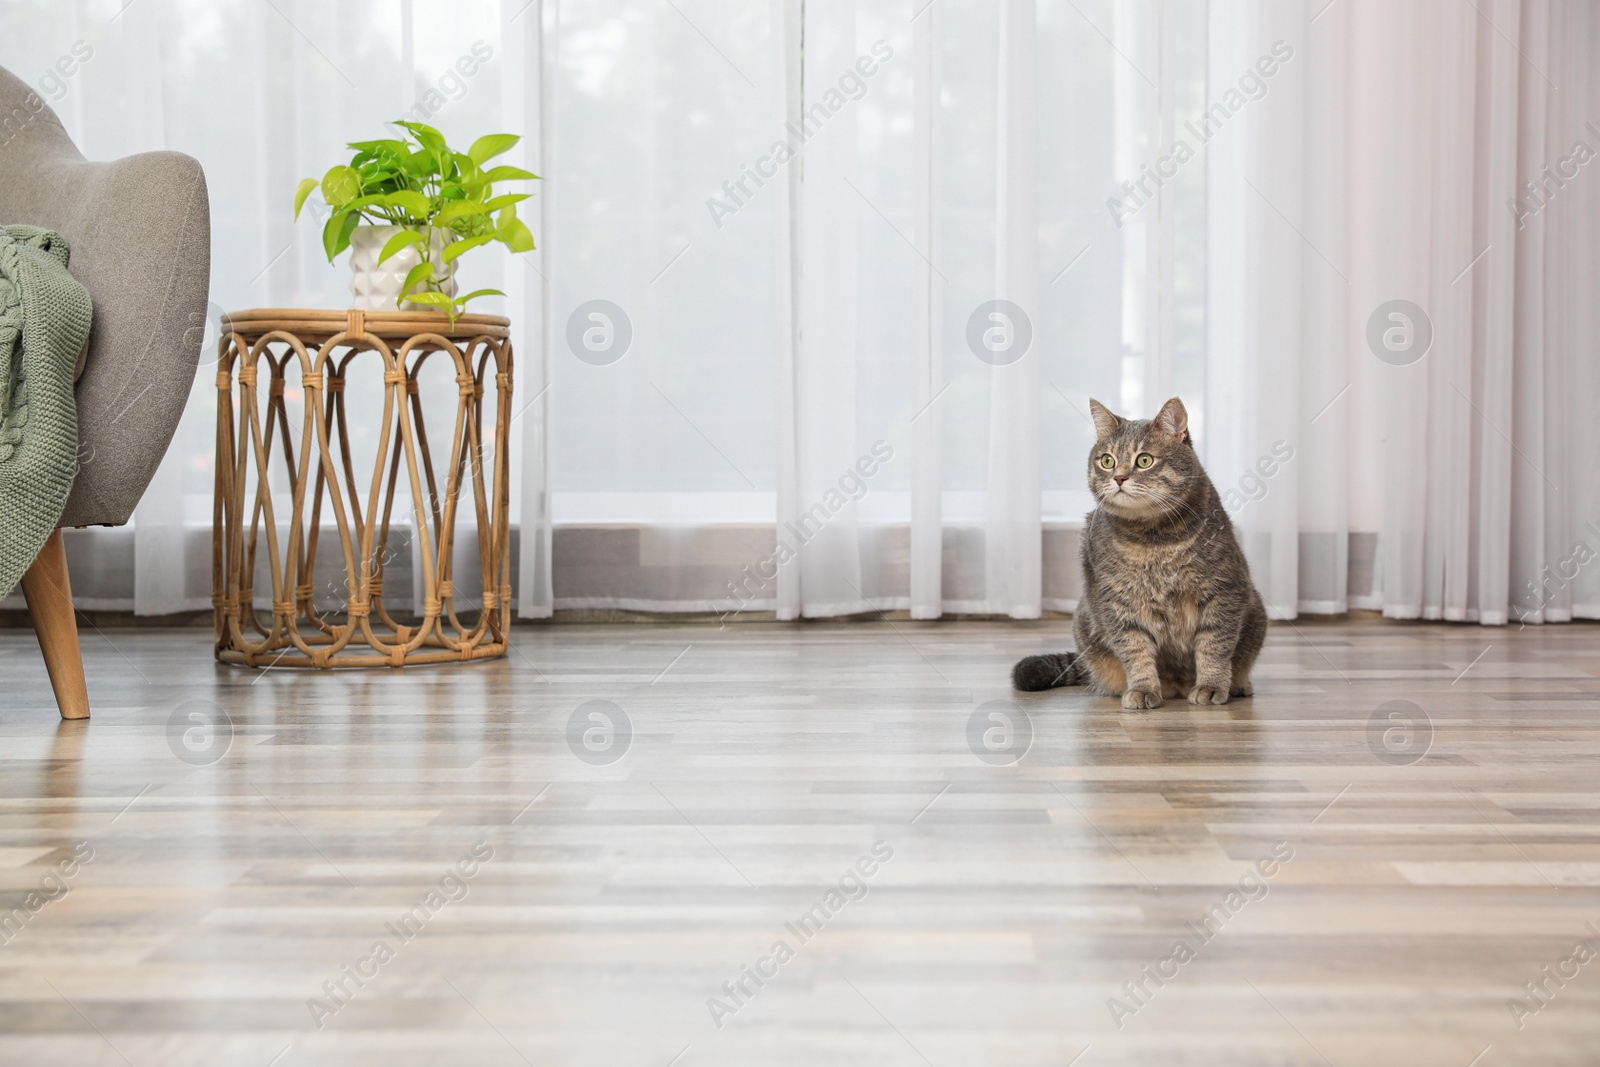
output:
{"label": "glossy light brown wooden plank floor beneath the cat and table", "polygon": [[0,1064],[1600,1062],[1600,629],[1011,693],[1067,629],[88,632],[86,723],[0,632]]}

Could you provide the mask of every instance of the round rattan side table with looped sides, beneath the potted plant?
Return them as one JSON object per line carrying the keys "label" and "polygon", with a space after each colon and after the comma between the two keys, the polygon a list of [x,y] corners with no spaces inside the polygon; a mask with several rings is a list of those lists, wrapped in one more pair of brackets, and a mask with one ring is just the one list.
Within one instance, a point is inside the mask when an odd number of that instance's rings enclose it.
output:
{"label": "round rattan side table with looped sides, beneath the potted plant", "polygon": [[[434,312],[261,309],[224,315],[211,545],[218,659],[250,667],[405,667],[506,654],[509,326],[498,315],[461,315],[451,326]],[[365,411],[376,411],[379,402],[382,406],[378,459],[366,486],[357,482],[346,416],[346,371],[362,354],[382,360],[381,395],[373,395],[370,405],[365,398],[352,402]],[[435,357],[453,362],[459,397],[443,486],[429,451],[418,379],[422,365]],[[298,435],[291,435],[285,405],[291,368],[304,397]],[[488,387],[494,392],[491,477],[485,472],[482,437]],[[286,499],[282,488],[274,490],[272,470],[280,472],[280,486],[286,483]],[[413,625],[397,622],[382,597],[402,470],[422,569],[422,605]],[[451,558],[464,496],[477,515],[483,601],[458,609]],[[288,523],[280,531],[285,507]],[[325,515],[339,533],[346,597],[342,611],[318,614],[314,574]],[[270,574],[270,609],[258,603],[258,552],[266,553]],[[470,625],[461,621],[467,609],[478,616]]]}

